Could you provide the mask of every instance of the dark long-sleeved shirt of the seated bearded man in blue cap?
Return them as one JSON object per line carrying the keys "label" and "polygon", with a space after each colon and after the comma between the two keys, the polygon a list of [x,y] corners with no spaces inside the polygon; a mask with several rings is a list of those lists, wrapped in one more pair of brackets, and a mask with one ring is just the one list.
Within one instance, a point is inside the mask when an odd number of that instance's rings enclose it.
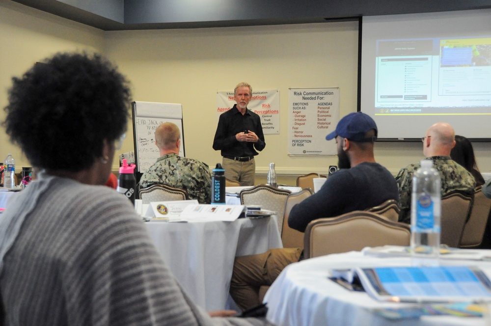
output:
{"label": "dark long-sleeved shirt of the seated bearded man in blue cap", "polygon": [[330,175],[321,190],[295,205],[288,225],[305,232],[307,224],[314,219],[365,210],[389,199],[399,201],[392,174],[379,163],[360,163]]}

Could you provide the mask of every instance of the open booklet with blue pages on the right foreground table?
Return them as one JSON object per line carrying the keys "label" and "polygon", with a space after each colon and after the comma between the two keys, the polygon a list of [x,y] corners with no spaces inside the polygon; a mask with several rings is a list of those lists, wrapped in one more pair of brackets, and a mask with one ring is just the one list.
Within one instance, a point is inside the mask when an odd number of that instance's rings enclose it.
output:
{"label": "open booklet with blue pages on the right foreground table", "polygon": [[364,290],[381,301],[491,301],[491,281],[478,267],[378,267],[355,272]]}

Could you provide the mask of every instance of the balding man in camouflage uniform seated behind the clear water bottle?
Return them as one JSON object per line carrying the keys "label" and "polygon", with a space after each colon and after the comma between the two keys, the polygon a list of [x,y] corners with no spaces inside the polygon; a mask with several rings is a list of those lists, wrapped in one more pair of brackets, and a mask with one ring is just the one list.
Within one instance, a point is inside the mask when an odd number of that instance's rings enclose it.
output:
{"label": "balding man in camouflage uniform seated behind the clear water bottle", "polygon": [[[433,161],[433,167],[441,176],[441,195],[460,190],[474,194],[476,181],[462,165],[450,158],[450,151],[455,146],[455,133],[448,123],[438,122],[431,126],[423,141],[423,154],[426,160]],[[411,191],[412,176],[420,168],[420,163],[409,164],[402,168],[396,176],[399,187],[401,214],[399,221],[411,223]]]}

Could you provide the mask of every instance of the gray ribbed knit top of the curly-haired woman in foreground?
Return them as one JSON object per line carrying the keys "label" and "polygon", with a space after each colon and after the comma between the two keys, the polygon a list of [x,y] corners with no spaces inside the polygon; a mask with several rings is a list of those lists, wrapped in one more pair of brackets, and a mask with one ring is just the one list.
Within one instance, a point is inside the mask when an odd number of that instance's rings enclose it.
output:
{"label": "gray ribbed knit top of the curly-haired woman in foreground", "polygon": [[265,325],[194,305],[108,187],[42,174],[0,217],[4,325]]}

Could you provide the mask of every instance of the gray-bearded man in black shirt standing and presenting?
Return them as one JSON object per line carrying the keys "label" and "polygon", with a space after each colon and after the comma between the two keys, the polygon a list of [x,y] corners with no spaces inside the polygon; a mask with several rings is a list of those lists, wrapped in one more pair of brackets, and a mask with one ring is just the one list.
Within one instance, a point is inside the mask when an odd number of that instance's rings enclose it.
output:
{"label": "gray-bearded man in black shirt standing and presenting", "polygon": [[254,186],[256,163],[254,156],[266,146],[259,115],[247,109],[252,87],[239,83],[234,90],[237,104],[220,115],[213,149],[221,150],[225,178],[240,181],[241,186]]}

